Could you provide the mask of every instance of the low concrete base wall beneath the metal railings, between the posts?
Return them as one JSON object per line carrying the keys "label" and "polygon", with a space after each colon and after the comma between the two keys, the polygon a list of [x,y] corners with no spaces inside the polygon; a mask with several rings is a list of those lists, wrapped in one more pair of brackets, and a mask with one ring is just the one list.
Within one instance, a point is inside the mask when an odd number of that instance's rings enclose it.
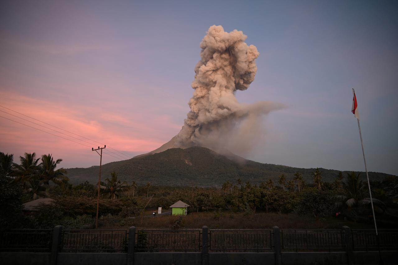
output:
{"label": "low concrete base wall beneath the metal railings, between the posts", "polygon": [[[354,264],[378,264],[377,251],[355,251]],[[2,265],[51,265],[51,253],[0,252]],[[384,264],[398,264],[398,251],[382,251]],[[208,265],[277,265],[275,253],[209,253]],[[127,265],[127,253],[58,253],[57,265]],[[201,265],[202,253],[135,253],[134,265]],[[282,252],[280,265],[347,264],[345,252]]]}

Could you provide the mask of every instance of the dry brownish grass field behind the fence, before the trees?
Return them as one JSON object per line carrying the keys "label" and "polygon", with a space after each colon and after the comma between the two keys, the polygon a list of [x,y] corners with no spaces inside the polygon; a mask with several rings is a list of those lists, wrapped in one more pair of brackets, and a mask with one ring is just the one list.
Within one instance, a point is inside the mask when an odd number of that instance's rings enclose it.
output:
{"label": "dry brownish grass field behind the fence, before the trees", "polygon": [[[151,214],[155,209],[148,209],[144,215]],[[157,209],[156,209],[157,210]],[[373,228],[372,223],[355,223],[338,218],[324,218],[316,220],[312,216],[297,214],[256,213],[242,212],[192,212],[187,216],[159,216],[141,218],[126,218],[117,224],[104,224],[101,229],[121,229],[136,226],[137,228],[202,228],[209,229],[266,229],[273,226],[282,229],[340,229],[349,226],[355,229]]]}

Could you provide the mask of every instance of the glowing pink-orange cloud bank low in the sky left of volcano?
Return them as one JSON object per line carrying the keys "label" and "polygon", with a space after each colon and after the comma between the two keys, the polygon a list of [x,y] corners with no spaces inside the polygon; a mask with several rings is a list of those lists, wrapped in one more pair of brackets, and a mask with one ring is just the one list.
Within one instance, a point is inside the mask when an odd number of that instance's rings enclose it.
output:
{"label": "glowing pink-orange cloud bank low in the sky left of volcano", "polygon": [[[163,138],[162,135],[160,135],[160,137],[156,137],[156,132],[158,135],[160,133],[156,130],[154,124],[156,124],[157,127],[171,126],[173,128],[175,127],[174,129],[180,128],[177,128],[176,125],[170,125],[170,117],[168,115],[160,115],[154,119],[148,119],[148,117],[146,117],[145,119],[133,120],[128,117],[129,115],[116,114],[112,113],[112,111],[107,111],[107,113],[97,116],[96,113],[100,111],[100,107],[98,107],[98,109],[95,107],[87,107],[85,105],[74,105],[73,107],[68,107],[68,105],[59,102],[35,99],[13,92],[2,91],[0,92],[0,95],[0,105],[4,107],[29,115],[35,119],[44,121],[72,133],[82,135],[86,138],[105,143],[107,146],[111,146],[121,152],[128,153],[130,156],[131,153],[137,154],[154,150],[164,144],[166,139],[168,140],[167,136],[163,136]],[[30,120],[34,123],[59,131],[60,133],[40,127],[39,125],[35,125],[28,121],[18,119],[17,117],[13,117],[4,112],[0,112],[0,115],[3,117],[47,131],[51,134],[68,138],[75,142],[80,142],[80,144],[77,144],[13,121],[0,118],[0,150],[2,152],[14,153],[16,157],[22,155],[23,152],[36,152],[39,155],[53,153],[58,154],[58,158],[63,158],[65,162],[68,160],[70,160],[70,162],[74,161],[80,166],[83,166],[82,164],[85,166],[90,166],[93,163],[98,164],[97,158],[92,158],[92,151],[90,150],[90,147],[96,147],[99,145],[97,142],[67,133],[2,107],[0,107],[0,110],[23,117],[24,119]],[[61,133],[68,134],[81,140]],[[108,150],[109,149],[106,151]],[[116,159],[109,156],[104,162],[111,162],[114,160]],[[82,161],[84,161],[84,163],[82,163]],[[66,164],[68,164],[68,166],[73,166],[73,163],[70,162]]]}

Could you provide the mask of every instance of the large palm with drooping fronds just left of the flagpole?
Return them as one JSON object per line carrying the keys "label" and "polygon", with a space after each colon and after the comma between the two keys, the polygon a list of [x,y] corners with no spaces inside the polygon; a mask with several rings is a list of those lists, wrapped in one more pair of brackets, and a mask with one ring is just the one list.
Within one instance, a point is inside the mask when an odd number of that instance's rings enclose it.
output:
{"label": "large palm with drooping fronds just left of the flagpole", "polygon": [[[348,208],[353,208],[358,205],[369,205],[371,198],[365,197],[368,194],[367,185],[359,178],[361,173],[358,175],[352,171],[347,173],[346,181],[344,182],[345,194],[337,195],[337,205],[342,207],[346,205]],[[382,201],[372,198],[374,204],[383,204]]]}

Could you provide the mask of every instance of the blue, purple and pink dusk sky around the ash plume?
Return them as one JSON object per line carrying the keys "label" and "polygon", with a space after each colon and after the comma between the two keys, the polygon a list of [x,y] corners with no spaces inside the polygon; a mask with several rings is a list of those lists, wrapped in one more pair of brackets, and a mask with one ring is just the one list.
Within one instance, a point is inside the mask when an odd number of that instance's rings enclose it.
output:
{"label": "blue, purple and pink dusk sky around the ash plume", "polygon": [[91,148],[103,144],[103,164],[158,148],[189,111],[202,38],[222,25],[260,53],[238,101],[287,105],[238,155],[364,171],[355,88],[368,170],[398,175],[397,11],[396,1],[2,1],[0,151],[74,168],[98,165]]}

